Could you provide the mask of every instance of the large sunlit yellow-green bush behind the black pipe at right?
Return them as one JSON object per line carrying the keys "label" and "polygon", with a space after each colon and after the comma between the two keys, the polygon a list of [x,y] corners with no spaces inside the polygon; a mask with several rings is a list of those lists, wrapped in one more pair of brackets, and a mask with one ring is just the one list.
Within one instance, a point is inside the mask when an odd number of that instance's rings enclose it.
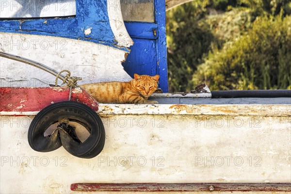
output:
{"label": "large sunlit yellow-green bush behind the black pipe at right", "polygon": [[291,16],[261,16],[230,47],[210,53],[193,81],[211,90],[291,88]]}

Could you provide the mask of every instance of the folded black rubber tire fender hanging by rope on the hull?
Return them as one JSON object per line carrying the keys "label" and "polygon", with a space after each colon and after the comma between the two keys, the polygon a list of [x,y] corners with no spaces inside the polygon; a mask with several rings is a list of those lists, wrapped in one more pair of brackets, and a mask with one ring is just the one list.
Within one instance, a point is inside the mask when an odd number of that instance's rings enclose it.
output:
{"label": "folded black rubber tire fender hanging by rope on the hull", "polygon": [[[45,137],[44,133],[49,126],[62,119],[85,127],[90,133],[88,139],[81,143],[60,128]],[[39,152],[49,152],[64,146],[76,157],[94,158],[104,147],[105,129],[98,114],[90,107],[74,101],[63,101],[47,106],[33,118],[28,130],[28,142],[33,150]]]}

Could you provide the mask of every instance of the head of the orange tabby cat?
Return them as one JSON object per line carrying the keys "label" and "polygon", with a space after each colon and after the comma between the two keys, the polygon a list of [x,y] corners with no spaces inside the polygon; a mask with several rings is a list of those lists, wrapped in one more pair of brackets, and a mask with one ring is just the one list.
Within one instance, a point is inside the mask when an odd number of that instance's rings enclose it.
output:
{"label": "head of the orange tabby cat", "polygon": [[136,90],[144,97],[149,97],[158,88],[158,81],[160,76],[148,76],[148,75],[138,75],[134,74],[134,84]]}

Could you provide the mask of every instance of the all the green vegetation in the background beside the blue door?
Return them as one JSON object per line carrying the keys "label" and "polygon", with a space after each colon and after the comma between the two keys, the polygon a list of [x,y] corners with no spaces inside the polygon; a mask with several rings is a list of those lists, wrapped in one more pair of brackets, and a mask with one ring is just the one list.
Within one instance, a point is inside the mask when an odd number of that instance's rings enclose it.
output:
{"label": "all the green vegetation in the background beside the blue door", "polygon": [[291,89],[289,0],[197,0],[167,12],[171,92]]}

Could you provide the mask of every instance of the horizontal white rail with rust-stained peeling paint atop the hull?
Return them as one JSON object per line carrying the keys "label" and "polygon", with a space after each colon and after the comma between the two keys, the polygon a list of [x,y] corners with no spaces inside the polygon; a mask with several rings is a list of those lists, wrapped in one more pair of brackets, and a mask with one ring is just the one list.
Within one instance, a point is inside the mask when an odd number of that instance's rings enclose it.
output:
{"label": "horizontal white rail with rust-stained peeling paint atop the hull", "polygon": [[[36,115],[38,112],[0,112],[0,115]],[[99,115],[228,115],[290,116],[289,104],[102,104]],[[284,124],[277,123],[277,128]],[[272,149],[272,148],[270,148]]]}

